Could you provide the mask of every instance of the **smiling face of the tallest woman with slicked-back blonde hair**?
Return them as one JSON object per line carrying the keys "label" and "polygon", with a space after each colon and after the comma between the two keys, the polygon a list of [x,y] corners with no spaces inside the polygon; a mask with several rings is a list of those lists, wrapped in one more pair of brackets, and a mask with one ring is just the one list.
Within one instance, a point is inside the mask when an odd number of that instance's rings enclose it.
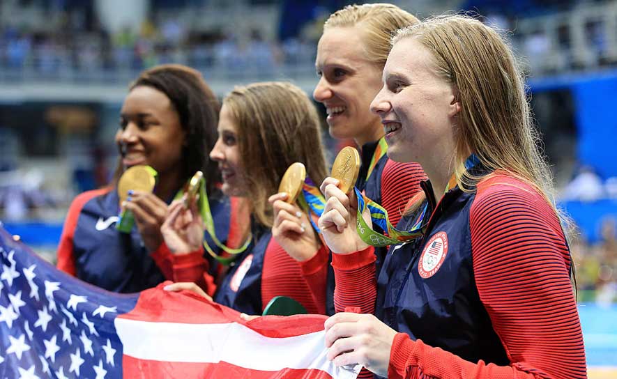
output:
{"label": "smiling face of the tallest woman with slicked-back blonde hair", "polygon": [[361,146],[383,135],[370,103],[381,88],[381,68],[365,58],[358,27],[326,29],[319,39],[313,98],[326,106],[330,135]]}

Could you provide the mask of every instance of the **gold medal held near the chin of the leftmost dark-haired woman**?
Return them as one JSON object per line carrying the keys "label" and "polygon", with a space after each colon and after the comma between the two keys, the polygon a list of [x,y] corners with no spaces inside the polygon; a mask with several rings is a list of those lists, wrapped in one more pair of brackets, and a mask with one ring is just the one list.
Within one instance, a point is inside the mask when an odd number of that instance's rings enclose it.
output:
{"label": "gold medal held near the chin of the leftmost dark-haired woman", "polygon": [[[143,191],[152,192],[156,185],[156,171],[150,166],[139,165],[133,166],[124,171],[120,180],[118,180],[118,197],[120,204],[128,199],[128,192]],[[123,209],[120,215],[120,221],[116,224],[116,229],[122,233],[130,233],[130,230],[135,223],[135,218],[130,210]]]}

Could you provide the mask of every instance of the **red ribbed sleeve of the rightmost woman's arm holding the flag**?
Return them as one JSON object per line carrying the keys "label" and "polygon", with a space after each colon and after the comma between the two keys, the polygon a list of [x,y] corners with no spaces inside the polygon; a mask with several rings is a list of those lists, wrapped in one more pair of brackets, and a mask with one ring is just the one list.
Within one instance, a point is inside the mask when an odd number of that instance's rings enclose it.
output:
{"label": "red ribbed sleeve of the rightmost woman's arm holding the flag", "polygon": [[480,300],[509,366],[464,359],[397,334],[392,378],[586,378],[570,253],[554,211],[530,186],[503,175],[478,185],[471,207]]}

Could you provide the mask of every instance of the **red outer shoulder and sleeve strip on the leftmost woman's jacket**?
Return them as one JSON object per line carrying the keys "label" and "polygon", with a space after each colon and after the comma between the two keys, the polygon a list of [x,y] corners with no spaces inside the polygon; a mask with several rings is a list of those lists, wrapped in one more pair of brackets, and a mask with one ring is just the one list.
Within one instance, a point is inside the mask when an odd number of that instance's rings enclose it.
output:
{"label": "red outer shoulder and sleeve strip on the leftmost woman's jacket", "polygon": [[79,194],[75,197],[75,199],[73,199],[73,203],[71,203],[70,208],[68,208],[68,213],[64,221],[62,235],[58,245],[58,252],[56,253],[56,257],[58,259],[56,268],[59,270],[73,276],[77,274],[77,270],[75,268],[75,256],[73,256],[73,237],[75,236],[75,228],[77,227],[79,214],[82,212],[82,208],[84,208],[85,203],[96,196],[109,192],[110,190],[111,188],[109,187],[96,189],[94,191]]}

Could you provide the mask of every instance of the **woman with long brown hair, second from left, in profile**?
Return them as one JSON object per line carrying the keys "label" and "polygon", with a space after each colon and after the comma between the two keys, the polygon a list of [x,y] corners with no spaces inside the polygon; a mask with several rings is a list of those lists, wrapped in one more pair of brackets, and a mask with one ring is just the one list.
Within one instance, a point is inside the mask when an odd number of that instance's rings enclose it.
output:
{"label": "woman with long brown hair, second from left, in profile", "polygon": [[[329,252],[315,230],[314,208],[292,204],[294,197],[302,204],[312,203],[312,196],[321,197],[317,185],[310,184],[311,180],[321,183],[326,177],[314,105],[300,88],[289,83],[237,87],[223,100],[218,132],[210,157],[218,162],[222,173],[222,191],[245,199],[251,215],[250,233],[247,231],[245,238],[252,242],[239,254],[217,257],[227,260],[229,269],[212,280],[218,283],[214,293],[212,286],[198,288],[191,283],[176,283],[166,289],[213,293],[215,302],[249,315],[261,314],[277,296],[291,297],[309,313],[324,314]],[[298,180],[288,180],[289,176],[305,178],[301,192]],[[283,206],[273,206],[278,199]],[[323,201],[319,205],[323,207]],[[182,240],[183,249],[199,251],[201,246],[194,237],[199,230],[191,222],[199,215],[195,208],[180,207],[172,211],[164,225],[166,240],[167,235],[173,236]],[[281,215],[281,209],[287,211],[295,227],[275,217]],[[313,254],[302,259],[294,256],[294,247]]]}

